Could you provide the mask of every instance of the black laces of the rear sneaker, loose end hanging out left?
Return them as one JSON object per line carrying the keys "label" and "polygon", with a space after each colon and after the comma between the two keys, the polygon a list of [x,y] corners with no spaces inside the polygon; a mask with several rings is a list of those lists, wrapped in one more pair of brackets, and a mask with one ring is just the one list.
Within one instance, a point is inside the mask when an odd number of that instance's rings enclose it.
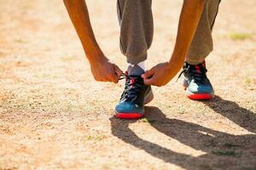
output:
{"label": "black laces of the rear sneaker, loose end hanging out left", "polygon": [[197,84],[205,84],[207,69],[205,67],[198,66],[197,69],[190,68],[190,65],[183,69],[178,75],[177,80],[183,75],[183,73],[189,73],[189,81],[195,80]]}

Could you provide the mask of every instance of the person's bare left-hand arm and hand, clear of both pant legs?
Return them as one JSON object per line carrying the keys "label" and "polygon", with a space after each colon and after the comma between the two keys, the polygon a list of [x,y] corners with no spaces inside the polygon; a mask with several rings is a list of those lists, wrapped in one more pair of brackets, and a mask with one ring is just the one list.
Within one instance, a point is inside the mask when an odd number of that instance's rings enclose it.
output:
{"label": "person's bare left-hand arm and hand, clear of both pant legs", "polygon": [[118,82],[122,73],[117,65],[111,63],[102,53],[90,26],[90,17],[84,0],[63,0],[73,22],[84,52],[90,61],[90,68],[96,81]]}

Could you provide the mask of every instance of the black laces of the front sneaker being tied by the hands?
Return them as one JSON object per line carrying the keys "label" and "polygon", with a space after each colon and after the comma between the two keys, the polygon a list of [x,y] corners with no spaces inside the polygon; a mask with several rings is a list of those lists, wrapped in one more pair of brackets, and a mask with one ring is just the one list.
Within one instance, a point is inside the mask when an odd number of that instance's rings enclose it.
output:
{"label": "black laces of the front sneaker being tied by the hands", "polygon": [[128,73],[122,73],[119,80],[125,79],[125,91],[121,96],[121,99],[126,101],[135,101],[137,99],[137,94],[140,93],[143,87],[143,82],[140,83],[139,76],[129,76]]}

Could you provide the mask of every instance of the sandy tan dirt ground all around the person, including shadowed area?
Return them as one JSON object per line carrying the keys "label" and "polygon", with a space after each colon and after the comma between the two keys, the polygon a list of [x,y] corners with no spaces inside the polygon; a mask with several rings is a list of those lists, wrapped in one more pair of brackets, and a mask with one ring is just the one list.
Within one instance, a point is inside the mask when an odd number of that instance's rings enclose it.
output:
{"label": "sandy tan dirt ground all around the person, including shadowed area", "polygon": [[[148,68],[172,54],[182,1],[154,1]],[[88,0],[98,42],[125,70],[116,4]],[[217,94],[154,88],[138,121],[113,118],[124,82],[95,82],[58,0],[0,2],[0,169],[256,169],[256,1],[220,6],[207,58]]]}

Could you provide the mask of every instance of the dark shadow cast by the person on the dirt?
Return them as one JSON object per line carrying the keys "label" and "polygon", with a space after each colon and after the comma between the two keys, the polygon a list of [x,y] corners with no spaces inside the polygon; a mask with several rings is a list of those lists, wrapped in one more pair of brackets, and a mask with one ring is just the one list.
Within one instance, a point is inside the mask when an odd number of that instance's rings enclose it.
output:
{"label": "dark shadow cast by the person on the dirt", "polygon": [[[218,96],[204,104],[247,131],[255,133],[256,115],[252,111]],[[110,118],[113,135],[127,144],[145,150],[151,156],[185,169],[256,169],[255,134],[233,135],[195,123],[169,119],[156,107],[147,107],[146,112],[145,118],[160,133],[207,154],[198,157],[189,156],[141,139],[129,128],[130,123],[137,121]]]}

